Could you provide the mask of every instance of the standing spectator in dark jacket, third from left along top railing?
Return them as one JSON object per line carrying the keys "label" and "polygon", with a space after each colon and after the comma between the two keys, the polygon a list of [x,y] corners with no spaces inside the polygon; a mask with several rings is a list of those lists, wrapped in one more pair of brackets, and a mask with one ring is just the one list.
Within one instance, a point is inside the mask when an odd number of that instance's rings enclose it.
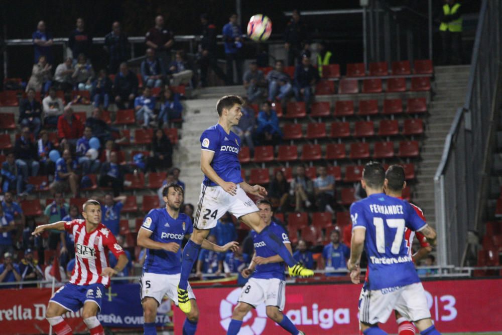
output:
{"label": "standing spectator in dark jacket, third from left along top railing", "polygon": [[104,50],[110,60],[108,73],[117,73],[118,66],[129,59],[128,49],[129,41],[126,34],[122,33],[120,23],[114,22],[111,32],[104,37]]}

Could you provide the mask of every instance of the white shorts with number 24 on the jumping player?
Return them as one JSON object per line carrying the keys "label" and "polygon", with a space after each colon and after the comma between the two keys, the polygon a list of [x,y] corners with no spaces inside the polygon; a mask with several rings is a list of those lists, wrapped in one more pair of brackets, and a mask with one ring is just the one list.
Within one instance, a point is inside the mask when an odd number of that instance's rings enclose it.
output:
{"label": "white shorts with number 24 on the jumping player", "polygon": [[195,211],[193,226],[197,229],[211,229],[226,212],[236,218],[258,212],[255,202],[237,185],[237,194],[230,195],[220,186],[200,185],[199,203]]}

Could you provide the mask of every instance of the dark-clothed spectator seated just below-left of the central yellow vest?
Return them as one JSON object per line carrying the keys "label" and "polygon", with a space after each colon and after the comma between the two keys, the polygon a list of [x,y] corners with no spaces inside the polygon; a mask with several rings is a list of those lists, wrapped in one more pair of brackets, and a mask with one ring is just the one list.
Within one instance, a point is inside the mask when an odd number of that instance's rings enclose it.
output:
{"label": "dark-clothed spectator seated just below-left of the central yellow vest", "polygon": [[305,101],[307,109],[314,100],[313,86],[319,81],[319,71],[310,65],[310,58],[302,57],[302,64],[295,69],[295,85],[293,91],[297,101]]}

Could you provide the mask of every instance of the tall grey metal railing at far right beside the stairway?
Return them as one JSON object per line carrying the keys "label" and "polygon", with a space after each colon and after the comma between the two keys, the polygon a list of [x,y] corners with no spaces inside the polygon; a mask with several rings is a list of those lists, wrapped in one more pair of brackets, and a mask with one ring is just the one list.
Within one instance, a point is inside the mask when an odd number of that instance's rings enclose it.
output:
{"label": "tall grey metal railing at far right beside the stairway", "polygon": [[501,42],[502,3],[483,0],[464,106],[456,111],[434,177],[440,265],[462,265],[467,232],[481,222],[492,120],[501,103]]}

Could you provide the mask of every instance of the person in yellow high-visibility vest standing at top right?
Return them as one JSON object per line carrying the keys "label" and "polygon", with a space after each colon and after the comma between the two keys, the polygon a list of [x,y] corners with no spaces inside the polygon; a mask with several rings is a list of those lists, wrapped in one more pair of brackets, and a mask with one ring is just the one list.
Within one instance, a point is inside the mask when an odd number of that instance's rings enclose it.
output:
{"label": "person in yellow high-visibility vest standing at top right", "polygon": [[462,7],[456,0],[445,0],[440,16],[439,33],[443,47],[443,64],[461,63]]}

